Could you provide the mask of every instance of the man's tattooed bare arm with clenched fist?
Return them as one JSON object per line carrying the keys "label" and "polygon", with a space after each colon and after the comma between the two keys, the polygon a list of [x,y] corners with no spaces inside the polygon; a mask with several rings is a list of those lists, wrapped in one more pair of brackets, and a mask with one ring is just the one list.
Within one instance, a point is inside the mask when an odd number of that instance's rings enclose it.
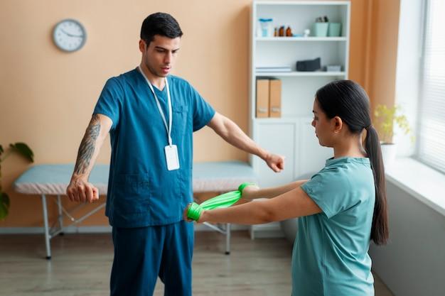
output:
{"label": "man's tattooed bare arm with clenched fist", "polygon": [[90,182],[90,172],[100,148],[112,126],[112,120],[102,114],[94,114],[77,152],[73,176],[66,193],[72,202],[93,202],[99,199],[99,192]]}

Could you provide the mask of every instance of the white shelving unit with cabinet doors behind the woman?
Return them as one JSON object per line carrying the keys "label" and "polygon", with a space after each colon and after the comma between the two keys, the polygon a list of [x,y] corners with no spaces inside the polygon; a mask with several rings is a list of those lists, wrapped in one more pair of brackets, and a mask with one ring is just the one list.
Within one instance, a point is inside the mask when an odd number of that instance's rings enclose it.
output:
{"label": "white shelving unit with cabinet doors behind the woman", "polygon": [[[318,16],[342,23],[339,37],[257,37],[259,18],[273,18],[273,26],[291,26],[293,33],[313,33]],[[252,166],[261,187],[282,185],[323,168],[333,155],[318,144],[312,121],[316,90],[333,80],[348,79],[350,1],[254,1],[250,31],[250,136],[260,146],[285,156],[283,172],[274,173],[257,157]],[[341,72],[297,72],[297,60],[321,57],[321,65],[341,65]],[[291,72],[256,72],[256,67],[290,66]],[[282,117],[257,119],[256,80],[282,80]],[[251,227],[251,236],[279,230],[279,224]]]}

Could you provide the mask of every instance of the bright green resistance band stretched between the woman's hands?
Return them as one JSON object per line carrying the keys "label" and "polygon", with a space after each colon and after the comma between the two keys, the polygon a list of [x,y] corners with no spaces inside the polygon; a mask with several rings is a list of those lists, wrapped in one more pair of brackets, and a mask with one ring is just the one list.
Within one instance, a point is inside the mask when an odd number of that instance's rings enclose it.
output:
{"label": "bright green resistance band stretched between the woman's hands", "polygon": [[197,204],[193,202],[190,205],[190,207],[188,207],[187,211],[188,218],[198,221],[203,210],[230,207],[232,204],[235,204],[235,202],[237,202],[241,198],[242,190],[244,190],[245,187],[250,185],[256,185],[256,184],[242,183],[240,187],[238,187],[238,190],[227,192],[225,194],[218,195],[217,197],[212,197],[211,199],[206,200],[202,204]]}

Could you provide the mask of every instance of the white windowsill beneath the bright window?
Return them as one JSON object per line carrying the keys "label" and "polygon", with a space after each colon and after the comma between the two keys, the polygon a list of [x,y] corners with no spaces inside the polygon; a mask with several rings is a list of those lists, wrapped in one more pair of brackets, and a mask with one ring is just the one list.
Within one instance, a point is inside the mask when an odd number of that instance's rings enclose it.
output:
{"label": "white windowsill beneath the bright window", "polygon": [[386,178],[445,216],[445,175],[441,172],[413,158],[397,158]]}

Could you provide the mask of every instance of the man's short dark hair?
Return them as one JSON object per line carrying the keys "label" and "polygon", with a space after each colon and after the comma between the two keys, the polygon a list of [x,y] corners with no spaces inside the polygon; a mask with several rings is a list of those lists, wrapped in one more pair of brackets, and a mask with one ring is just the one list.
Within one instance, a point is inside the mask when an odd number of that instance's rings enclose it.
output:
{"label": "man's short dark hair", "polygon": [[156,12],[144,19],[141,27],[141,39],[148,46],[154,39],[154,35],[168,38],[177,38],[183,35],[178,21],[168,13]]}

